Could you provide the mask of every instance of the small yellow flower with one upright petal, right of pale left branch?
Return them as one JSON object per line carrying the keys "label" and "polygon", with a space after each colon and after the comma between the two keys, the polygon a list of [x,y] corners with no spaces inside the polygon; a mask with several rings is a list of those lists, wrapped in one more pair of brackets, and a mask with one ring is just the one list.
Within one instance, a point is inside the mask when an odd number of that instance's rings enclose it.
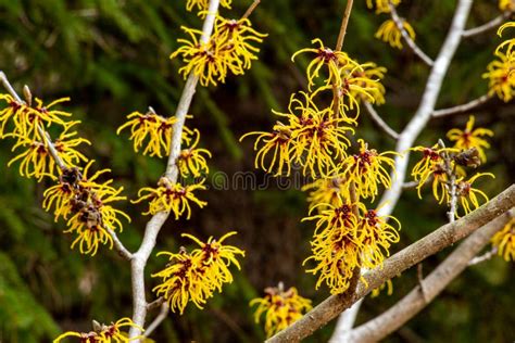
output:
{"label": "small yellow flower with one upright petal, right of pale left branch", "polygon": [[202,174],[210,173],[205,156],[211,157],[211,152],[208,149],[198,149],[197,144],[200,140],[199,130],[194,129],[193,135],[196,136],[196,139],[191,147],[184,149],[177,158],[177,167],[183,177],[187,177],[190,174],[193,177],[200,177]]}

